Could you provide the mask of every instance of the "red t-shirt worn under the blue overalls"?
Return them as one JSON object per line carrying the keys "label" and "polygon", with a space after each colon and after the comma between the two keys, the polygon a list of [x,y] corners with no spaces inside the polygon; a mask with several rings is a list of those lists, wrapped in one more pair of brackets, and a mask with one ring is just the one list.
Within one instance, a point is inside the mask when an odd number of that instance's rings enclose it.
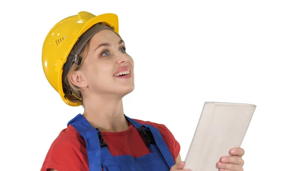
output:
{"label": "red t-shirt worn under the blue overalls", "polygon": [[[148,124],[159,129],[174,159],[178,156],[180,145],[171,131],[163,124],[134,119],[141,124]],[[139,131],[130,123],[122,132],[101,132],[108,149],[113,156],[132,155],[140,157],[150,153]],[[41,171],[47,169],[59,171],[89,170],[86,142],[77,130],[69,125],[63,129],[52,143]]]}

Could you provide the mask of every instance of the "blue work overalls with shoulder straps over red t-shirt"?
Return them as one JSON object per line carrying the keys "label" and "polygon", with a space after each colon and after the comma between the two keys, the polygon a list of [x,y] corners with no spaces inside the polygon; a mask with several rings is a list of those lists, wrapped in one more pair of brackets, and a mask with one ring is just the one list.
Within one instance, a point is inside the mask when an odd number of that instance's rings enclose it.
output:
{"label": "blue work overalls with shoulder straps over red t-shirt", "polygon": [[78,114],[67,124],[71,124],[85,139],[89,170],[101,171],[169,171],[175,160],[162,138],[160,131],[150,125],[142,125],[125,116],[146,140],[147,147],[152,151],[141,157],[133,158],[131,155],[112,156],[102,134],[97,128],[91,126],[87,119]]}

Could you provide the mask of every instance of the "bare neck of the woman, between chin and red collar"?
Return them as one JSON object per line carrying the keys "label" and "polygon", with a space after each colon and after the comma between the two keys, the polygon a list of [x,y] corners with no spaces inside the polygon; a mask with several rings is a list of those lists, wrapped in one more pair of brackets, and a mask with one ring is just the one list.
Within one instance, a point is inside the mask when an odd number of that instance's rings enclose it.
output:
{"label": "bare neck of the woman, between chin and red collar", "polygon": [[84,100],[84,117],[101,132],[127,130],[129,122],[124,116],[122,98],[106,97]]}

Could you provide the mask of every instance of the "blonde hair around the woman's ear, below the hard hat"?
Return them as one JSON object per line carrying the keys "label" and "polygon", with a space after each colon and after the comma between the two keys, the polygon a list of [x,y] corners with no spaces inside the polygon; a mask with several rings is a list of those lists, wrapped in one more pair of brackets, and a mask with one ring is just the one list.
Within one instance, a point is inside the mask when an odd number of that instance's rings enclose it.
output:
{"label": "blonde hair around the woman's ear, below the hard hat", "polygon": [[88,43],[84,46],[83,50],[80,52],[79,56],[82,57],[81,63],[78,65],[77,62],[74,62],[68,73],[67,76],[64,79],[64,83],[69,87],[71,94],[66,94],[67,98],[71,101],[80,101],[81,102],[81,106],[84,106],[83,103],[83,98],[82,98],[82,94],[81,94],[81,88],[79,88],[78,86],[74,85],[71,81],[70,81],[70,76],[74,71],[77,71],[81,65],[84,63],[88,53],[89,53],[89,46],[90,46],[90,41],[88,41]]}

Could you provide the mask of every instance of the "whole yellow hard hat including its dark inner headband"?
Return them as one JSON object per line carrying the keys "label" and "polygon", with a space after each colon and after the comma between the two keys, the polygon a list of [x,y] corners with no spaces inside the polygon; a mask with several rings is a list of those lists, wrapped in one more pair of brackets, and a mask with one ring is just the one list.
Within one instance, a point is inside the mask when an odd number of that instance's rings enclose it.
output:
{"label": "whole yellow hard hat including its dark inner headband", "polygon": [[[48,33],[42,50],[42,65],[45,76],[52,87],[69,106],[80,106],[77,97],[64,84],[64,79],[73,62],[81,62],[77,55],[89,39],[102,29],[112,29],[118,34],[118,16],[101,14],[95,16],[82,11],[58,22]],[[72,100],[74,95],[79,100]]]}

